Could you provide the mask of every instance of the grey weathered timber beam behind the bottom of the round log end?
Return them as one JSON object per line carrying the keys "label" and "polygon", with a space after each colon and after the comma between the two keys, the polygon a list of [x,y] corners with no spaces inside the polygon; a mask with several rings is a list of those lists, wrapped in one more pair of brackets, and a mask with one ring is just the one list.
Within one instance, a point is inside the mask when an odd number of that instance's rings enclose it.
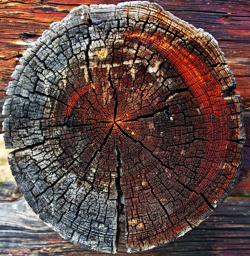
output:
{"label": "grey weathered timber beam behind the bottom of the round log end", "polygon": [[[13,193],[14,183],[0,183],[0,254],[2,256],[105,256],[62,239],[30,211],[24,198]],[[5,202],[4,202],[5,201]],[[133,256],[250,255],[250,203],[247,197],[228,197],[199,227],[164,246]],[[125,256],[121,238],[118,256]]]}

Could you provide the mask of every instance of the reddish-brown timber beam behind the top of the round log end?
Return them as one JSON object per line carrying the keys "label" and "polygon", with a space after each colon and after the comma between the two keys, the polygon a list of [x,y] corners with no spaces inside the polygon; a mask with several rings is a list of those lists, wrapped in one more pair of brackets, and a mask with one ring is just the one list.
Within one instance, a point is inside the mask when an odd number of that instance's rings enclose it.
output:
{"label": "reddish-brown timber beam behind the top of the round log end", "polygon": [[[81,4],[117,4],[119,1],[12,1],[0,3],[0,106],[10,75],[24,51],[54,21],[60,21]],[[165,10],[211,33],[219,42],[236,78],[236,94],[243,108],[250,106],[250,6],[249,1],[156,1]],[[1,112],[1,111],[0,111]],[[3,116],[1,116],[3,120]]]}

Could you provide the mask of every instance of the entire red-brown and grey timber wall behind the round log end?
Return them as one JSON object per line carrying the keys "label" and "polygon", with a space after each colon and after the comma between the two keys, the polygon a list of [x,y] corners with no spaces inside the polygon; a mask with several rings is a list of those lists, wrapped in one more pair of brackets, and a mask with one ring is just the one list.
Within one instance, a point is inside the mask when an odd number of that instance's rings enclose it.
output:
{"label": "entire red-brown and grey timber wall behind the round log end", "polygon": [[[0,0],[0,107],[19,58],[54,21],[80,4],[120,1]],[[153,1],[195,27],[211,33],[225,53],[241,95],[247,140],[239,183],[204,221],[175,242],[132,255],[250,255],[250,1]],[[0,116],[0,119],[3,119]],[[1,120],[0,120],[1,121]],[[125,255],[121,239],[117,255]],[[14,183],[0,184],[0,255],[101,255],[74,246],[44,225]],[[106,255],[106,254],[103,254]]]}

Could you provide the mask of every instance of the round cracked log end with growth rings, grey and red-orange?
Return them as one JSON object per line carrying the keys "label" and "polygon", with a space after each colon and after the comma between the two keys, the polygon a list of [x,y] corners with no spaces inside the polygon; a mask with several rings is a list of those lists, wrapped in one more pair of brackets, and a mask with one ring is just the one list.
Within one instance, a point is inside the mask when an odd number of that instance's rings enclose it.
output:
{"label": "round cracked log end with growth rings, grey and red-orange", "polygon": [[9,83],[5,144],[21,192],[73,243],[128,252],[183,235],[231,191],[240,97],[216,40],[149,2],[51,24]]}

